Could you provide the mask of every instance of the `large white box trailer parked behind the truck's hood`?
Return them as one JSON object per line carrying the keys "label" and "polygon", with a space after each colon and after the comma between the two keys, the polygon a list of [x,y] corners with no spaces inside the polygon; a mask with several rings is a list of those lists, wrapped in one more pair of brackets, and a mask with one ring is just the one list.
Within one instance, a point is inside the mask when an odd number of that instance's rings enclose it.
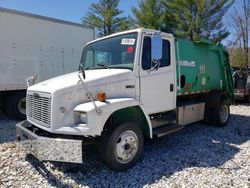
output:
{"label": "large white box trailer parked behind the truck's hood", "polygon": [[93,27],[1,7],[0,28],[0,95],[19,119],[27,78],[38,83],[76,70],[84,44],[95,38]]}

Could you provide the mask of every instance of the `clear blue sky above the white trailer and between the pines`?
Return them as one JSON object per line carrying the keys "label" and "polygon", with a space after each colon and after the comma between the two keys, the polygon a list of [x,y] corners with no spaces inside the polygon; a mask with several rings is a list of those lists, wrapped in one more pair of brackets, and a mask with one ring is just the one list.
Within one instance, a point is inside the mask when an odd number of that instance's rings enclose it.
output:
{"label": "clear blue sky above the white trailer and between the pines", "polygon": [[[81,23],[88,7],[98,0],[0,0],[0,7],[48,16],[61,20]],[[136,0],[121,0],[119,9],[124,16],[131,15],[131,7],[137,6]]]}

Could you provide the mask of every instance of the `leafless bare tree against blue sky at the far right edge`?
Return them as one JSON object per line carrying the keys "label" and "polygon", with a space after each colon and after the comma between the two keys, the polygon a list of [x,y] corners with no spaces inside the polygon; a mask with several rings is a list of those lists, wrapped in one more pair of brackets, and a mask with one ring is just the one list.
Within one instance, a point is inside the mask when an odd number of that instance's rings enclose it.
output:
{"label": "leafless bare tree against blue sky at the far right edge", "polygon": [[250,0],[242,0],[234,5],[230,15],[230,27],[233,30],[231,52],[235,47],[243,50],[244,65],[248,65],[249,33],[250,33]]}

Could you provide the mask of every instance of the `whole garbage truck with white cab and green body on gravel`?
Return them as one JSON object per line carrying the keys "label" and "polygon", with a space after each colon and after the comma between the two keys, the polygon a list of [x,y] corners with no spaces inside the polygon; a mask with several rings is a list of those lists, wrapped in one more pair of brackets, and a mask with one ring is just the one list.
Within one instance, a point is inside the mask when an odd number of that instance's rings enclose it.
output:
{"label": "whole garbage truck with white cab and green body on gravel", "polygon": [[198,121],[225,126],[233,98],[222,45],[139,28],[86,44],[77,72],[29,87],[16,136],[47,161],[82,163],[93,144],[108,167],[124,171],[146,139]]}

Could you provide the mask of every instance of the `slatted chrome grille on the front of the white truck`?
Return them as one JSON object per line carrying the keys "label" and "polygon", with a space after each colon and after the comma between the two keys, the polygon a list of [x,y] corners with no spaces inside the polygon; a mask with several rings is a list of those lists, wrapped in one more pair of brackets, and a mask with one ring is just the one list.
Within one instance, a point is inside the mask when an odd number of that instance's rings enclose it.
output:
{"label": "slatted chrome grille on the front of the white truck", "polygon": [[51,96],[50,94],[28,93],[27,116],[32,121],[50,127],[51,123]]}

